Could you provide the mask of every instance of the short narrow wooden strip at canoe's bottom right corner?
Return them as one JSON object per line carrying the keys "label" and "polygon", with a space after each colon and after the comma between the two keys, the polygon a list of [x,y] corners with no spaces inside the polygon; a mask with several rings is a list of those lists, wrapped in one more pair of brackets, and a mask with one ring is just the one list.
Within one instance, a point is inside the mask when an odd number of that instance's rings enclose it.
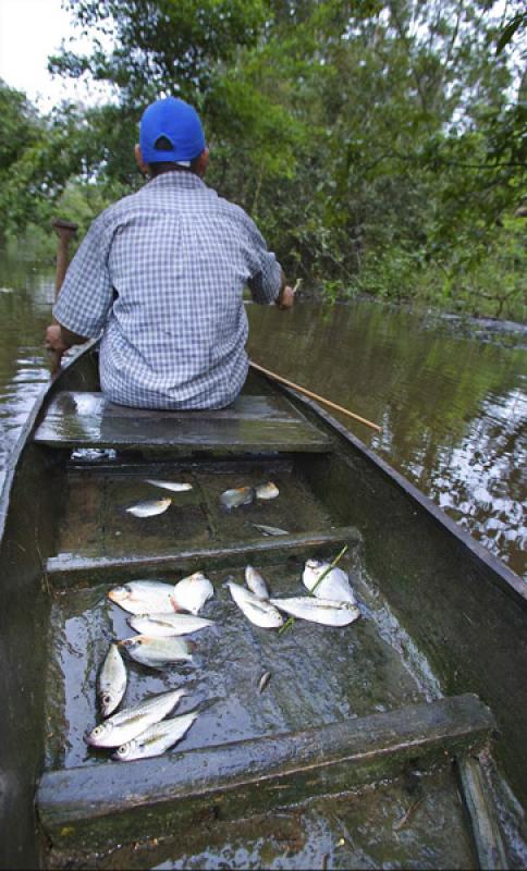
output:
{"label": "short narrow wooden strip at canoe's bottom right corner", "polygon": [[481,871],[502,871],[508,868],[492,793],[486,782],[481,763],[475,757],[457,760],[459,789],[470,820],[474,846]]}

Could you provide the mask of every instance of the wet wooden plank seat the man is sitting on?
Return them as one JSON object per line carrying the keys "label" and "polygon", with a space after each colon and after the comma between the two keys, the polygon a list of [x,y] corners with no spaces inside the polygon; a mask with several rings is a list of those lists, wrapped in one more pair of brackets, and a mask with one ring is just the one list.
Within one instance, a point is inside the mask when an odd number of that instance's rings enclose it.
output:
{"label": "wet wooden plank seat the man is sitting on", "polygon": [[220,410],[127,408],[101,393],[62,392],[35,433],[51,447],[171,452],[323,452],[330,439],[282,396],[240,396]]}

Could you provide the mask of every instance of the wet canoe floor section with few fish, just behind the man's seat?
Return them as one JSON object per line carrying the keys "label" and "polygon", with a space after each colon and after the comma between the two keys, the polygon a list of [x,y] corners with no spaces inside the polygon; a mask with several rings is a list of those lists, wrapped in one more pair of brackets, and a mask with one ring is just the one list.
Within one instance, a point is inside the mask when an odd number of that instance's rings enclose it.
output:
{"label": "wet canoe floor section with few fish, just behind the man's seat", "polygon": [[[186,492],[172,493],[146,482],[147,478],[184,481]],[[235,487],[256,487],[272,480],[278,499],[255,500],[250,505],[228,511],[220,494]],[[139,518],[126,508],[140,500],[172,499],[160,515]],[[333,519],[317,501],[306,480],[285,462],[252,463],[244,467],[218,463],[215,470],[196,470],[192,465],[145,466],[122,474],[93,469],[69,476],[58,555],[83,557],[162,555],[177,548],[232,541],[262,540],[253,524],[285,529],[291,533],[330,529]]]}

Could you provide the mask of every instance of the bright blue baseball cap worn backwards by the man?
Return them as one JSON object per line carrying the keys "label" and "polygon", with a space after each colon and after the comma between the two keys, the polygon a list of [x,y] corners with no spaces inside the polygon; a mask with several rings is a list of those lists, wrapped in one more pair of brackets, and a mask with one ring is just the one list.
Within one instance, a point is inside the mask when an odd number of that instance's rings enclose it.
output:
{"label": "bright blue baseball cap worn backwards by the man", "polygon": [[[161,136],[169,140],[171,149],[156,147]],[[198,113],[176,97],[156,100],[143,112],[139,147],[145,163],[169,161],[189,165],[206,147]]]}

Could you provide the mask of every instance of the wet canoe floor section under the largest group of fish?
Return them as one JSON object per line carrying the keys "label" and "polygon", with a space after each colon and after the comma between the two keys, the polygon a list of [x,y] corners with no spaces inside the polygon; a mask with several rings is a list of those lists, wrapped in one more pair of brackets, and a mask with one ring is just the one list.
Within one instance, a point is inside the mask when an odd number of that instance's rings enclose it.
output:
{"label": "wet canoe floor section under the largest group of fish", "polygon": [[[205,709],[177,746],[187,750],[296,732],[422,700],[418,677],[396,649],[396,629],[390,625],[383,631],[385,612],[360,581],[357,560],[355,554],[346,566],[359,594],[361,617],[345,628],[295,621],[282,635],[252,625],[222,586],[230,574],[243,582],[243,568],[209,573],[215,598],[201,613],[216,623],[192,637],[193,662],[156,671],[128,660],[123,706],[156,692],[187,688],[180,712]],[[266,566],[272,593],[302,594],[302,567],[299,557]],[[164,574],[160,579],[179,577]],[[89,749],[83,736],[98,722],[96,679],[109,643],[134,635],[126,623],[130,615],[107,598],[112,586],[56,594],[46,694],[50,769],[109,758],[108,751]],[[271,678],[259,694],[265,672]]]}

